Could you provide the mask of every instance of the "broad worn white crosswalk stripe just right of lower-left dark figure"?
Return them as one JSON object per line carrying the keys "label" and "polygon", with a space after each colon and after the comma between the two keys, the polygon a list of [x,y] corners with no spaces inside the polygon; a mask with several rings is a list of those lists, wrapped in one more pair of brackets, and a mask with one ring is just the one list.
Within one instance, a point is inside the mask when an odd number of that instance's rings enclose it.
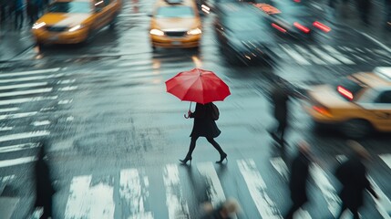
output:
{"label": "broad worn white crosswalk stripe just right of lower-left dark figure", "polygon": [[113,187],[106,183],[90,186],[91,180],[91,175],[72,179],[65,212],[66,219],[114,218]]}

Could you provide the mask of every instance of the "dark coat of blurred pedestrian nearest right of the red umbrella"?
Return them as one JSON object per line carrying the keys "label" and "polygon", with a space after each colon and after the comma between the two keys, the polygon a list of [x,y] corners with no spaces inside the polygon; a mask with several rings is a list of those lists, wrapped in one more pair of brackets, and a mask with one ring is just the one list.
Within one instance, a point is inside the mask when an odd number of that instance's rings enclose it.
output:
{"label": "dark coat of blurred pedestrian nearest right of the red umbrella", "polygon": [[286,122],[288,115],[289,94],[280,86],[274,86],[272,90],[274,118]]}

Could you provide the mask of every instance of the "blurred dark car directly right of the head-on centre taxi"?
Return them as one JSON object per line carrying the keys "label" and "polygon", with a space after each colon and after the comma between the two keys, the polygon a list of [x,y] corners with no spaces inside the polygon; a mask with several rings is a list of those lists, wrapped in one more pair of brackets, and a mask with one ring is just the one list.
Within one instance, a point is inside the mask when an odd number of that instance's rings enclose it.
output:
{"label": "blurred dark car directly right of the head-on centre taxi", "polygon": [[225,3],[216,11],[215,30],[221,52],[231,64],[268,63],[273,53],[266,46],[273,36],[262,14],[247,3]]}

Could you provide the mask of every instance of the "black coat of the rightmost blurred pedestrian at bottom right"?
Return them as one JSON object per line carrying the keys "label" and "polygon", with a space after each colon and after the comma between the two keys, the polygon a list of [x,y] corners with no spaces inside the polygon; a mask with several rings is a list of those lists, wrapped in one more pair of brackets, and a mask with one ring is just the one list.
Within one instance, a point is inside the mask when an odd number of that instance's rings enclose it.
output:
{"label": "black coat of the rightmost blurred pedestrian at bottom right", "polygon": [[376,196],[366,178],[365,165],[358,157],[352,157],[339,165],[335,175],[343,185],[339,196],[347,208],[357,209],[363,205],[365,189]]}

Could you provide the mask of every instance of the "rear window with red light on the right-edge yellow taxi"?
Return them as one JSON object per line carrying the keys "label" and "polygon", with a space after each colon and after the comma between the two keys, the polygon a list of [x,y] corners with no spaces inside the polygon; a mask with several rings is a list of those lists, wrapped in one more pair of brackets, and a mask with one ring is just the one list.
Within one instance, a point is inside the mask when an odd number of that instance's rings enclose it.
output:
{"label": "rear window with red light on the right-edge yellow taxi", "polygon": [[365,85],[353,77],[339,78],[335,83],[337,93],[346,100],[353,100]]}

